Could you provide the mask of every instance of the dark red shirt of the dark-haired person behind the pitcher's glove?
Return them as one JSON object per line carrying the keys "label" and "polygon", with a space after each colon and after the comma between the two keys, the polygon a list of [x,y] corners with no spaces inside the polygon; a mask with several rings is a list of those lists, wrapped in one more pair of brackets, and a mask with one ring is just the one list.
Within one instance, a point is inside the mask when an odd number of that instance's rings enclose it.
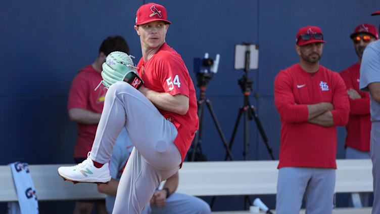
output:
{"label": "dark red shirt of the dark-haired person behind the pitcher's glove", "polygon": [[[82,68],[74,77],[68,97],[67,109],[82,108],[95,113],[102,113],[107,89],[101,84],[97,91],[94,89],[102,80],[102,75],[91,65]],[[98,124],[77,123],[78,138],[76,139],[74,158],[87,158],[91,151]]]}

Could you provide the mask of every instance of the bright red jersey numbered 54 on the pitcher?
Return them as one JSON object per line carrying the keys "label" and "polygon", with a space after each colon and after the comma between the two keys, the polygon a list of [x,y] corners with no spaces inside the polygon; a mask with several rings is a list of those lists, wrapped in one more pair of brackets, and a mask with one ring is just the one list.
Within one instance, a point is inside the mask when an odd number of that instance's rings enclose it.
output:
{"label": "bright red jersey numbered 54 on the pitcher", "polygon": [[178,147],[183,161],[199,125],[193,80],[181,56],[166,42],[146,62],[141,58],[137,67],[146,88],[159,93],[167,92],[172,96],[181,94],[189,98],[189,108],[185,115],[158,109],[177,128],[178,135],[174,144]]}

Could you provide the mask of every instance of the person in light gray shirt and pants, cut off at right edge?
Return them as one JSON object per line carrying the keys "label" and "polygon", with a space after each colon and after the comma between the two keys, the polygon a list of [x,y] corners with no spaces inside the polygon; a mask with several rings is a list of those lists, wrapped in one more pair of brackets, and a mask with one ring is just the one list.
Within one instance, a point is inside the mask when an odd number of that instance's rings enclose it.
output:
{"label": "person in light gray shirt and pants, cut off at right edge", "polygon": [[[380,10],[371,14],[380,15]],[[372,214],[380,213],[380,40],[371,42],[363,52],[360,64],[361,91],[369,92],[371,112],[371,140],[373,205]]]}

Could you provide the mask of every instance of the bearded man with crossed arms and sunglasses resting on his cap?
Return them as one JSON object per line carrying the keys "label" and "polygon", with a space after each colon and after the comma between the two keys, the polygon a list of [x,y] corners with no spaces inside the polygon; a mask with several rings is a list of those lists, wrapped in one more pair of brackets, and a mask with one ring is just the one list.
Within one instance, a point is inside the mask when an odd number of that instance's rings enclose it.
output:
{"label": "bearded man with crossed arms and sunglasses resting on his cap", "polygon": [[337,153],[336,126],[346,125],[350,111],[346,85],[337,72],[321,65],[322,30],[299,29],[300,62],[274,80],[274,102],[281,118],[276,213],[333,211]]}

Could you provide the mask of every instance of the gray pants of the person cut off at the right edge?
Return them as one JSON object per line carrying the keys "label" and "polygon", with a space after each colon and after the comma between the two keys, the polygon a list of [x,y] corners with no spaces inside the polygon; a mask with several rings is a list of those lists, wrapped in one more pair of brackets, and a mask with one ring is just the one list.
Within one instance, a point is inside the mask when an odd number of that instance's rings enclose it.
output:
{"label": "gray pants of the person cut off at the right edge", "polygon": [[370,154],[373,176],[372,214],[380,213],[380,122],[372,122]]}

